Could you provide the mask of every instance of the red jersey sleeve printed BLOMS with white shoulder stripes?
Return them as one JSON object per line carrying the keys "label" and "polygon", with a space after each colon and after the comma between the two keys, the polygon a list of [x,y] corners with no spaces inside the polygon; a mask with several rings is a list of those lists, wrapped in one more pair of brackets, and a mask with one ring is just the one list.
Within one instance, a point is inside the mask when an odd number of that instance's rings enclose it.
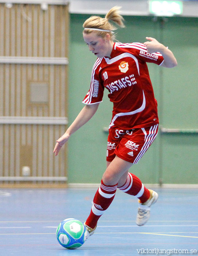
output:
{"label": "red jersey sleeve printed BLOMS with white shoulder stripes", "polygon": [[148,53],[147,48],[141,43],[132,43],[132,48],[135,50],[136,56],[145,61],[155,63],[157,65],[162,65],[164,58],[160,52]]}

